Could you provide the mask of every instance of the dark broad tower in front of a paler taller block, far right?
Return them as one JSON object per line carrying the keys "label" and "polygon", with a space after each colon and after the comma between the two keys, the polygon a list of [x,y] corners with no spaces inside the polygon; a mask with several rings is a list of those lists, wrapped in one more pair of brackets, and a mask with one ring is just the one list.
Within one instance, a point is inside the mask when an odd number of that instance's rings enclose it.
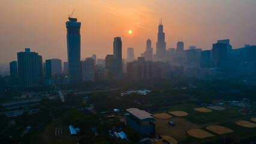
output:
{"label": "dark broad tower in front of a paler taller block, far right", "polygon": [[227,44],[216,43],[213,44],[212,59],[214,66],[218,68],[225,68],[227,62]]}

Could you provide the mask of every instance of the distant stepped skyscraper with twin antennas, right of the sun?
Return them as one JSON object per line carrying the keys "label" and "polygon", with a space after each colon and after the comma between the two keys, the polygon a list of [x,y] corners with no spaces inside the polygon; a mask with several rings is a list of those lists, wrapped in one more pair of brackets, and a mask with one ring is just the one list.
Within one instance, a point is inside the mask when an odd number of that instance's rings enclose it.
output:
{"label": "distant stepped skyscraper with twin antennas, right of the sun", "polygon": [[157,59],[165,58],[165,53],[166,53],[165,33],[163,32],[163,25],[162,25],[162,19],[161,19],[158,26],[158,33],[157,33],[157,43],[156,43]]}

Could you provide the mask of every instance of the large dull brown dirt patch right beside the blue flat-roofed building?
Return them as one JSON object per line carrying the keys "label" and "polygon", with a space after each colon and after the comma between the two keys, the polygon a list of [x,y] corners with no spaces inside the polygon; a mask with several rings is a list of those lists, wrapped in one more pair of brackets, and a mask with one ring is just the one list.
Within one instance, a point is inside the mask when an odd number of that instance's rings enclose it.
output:
{"label": "large dull brown dirt patch right beside the blue flat-roofed building", "polygon": [[[174,122],[174,126],[168,124],[169,121]],[[187,130],[192,128],[201,128],[200,126],[187,121],[183,118],[156,119],[156,134],[163,136],[172,136],[175,139],[185,139]]]}

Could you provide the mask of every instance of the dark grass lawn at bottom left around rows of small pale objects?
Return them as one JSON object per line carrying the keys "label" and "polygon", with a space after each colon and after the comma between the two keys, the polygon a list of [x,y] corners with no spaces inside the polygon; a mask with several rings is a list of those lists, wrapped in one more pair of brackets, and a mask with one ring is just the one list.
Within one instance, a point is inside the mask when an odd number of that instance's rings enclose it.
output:
{"label": "dark grass lawn at bottom left around rows of small pale objects", "polygon": [[[62,127],[61,136],[55,136],[55,127]],[[74,144],[78,143],[81,136],[70,136],[68,126],[63,125],[62,119],[59,119],[55,122],[50,122],[49,124],[44,125],[43,127],[36,130],[29,137],[29,143],[37,144]]]}

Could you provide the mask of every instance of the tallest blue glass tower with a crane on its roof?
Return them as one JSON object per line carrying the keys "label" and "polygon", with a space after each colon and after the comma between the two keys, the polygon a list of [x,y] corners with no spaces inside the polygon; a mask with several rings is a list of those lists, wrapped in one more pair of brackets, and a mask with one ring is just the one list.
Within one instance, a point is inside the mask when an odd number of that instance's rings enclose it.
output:
{"label": "tallest blue glass tower with a crane on its roof", "polygon": [[69,74],[72,83],[81,82],[81,22],[69,17],[67,27],[67,57],[69,62]]}

